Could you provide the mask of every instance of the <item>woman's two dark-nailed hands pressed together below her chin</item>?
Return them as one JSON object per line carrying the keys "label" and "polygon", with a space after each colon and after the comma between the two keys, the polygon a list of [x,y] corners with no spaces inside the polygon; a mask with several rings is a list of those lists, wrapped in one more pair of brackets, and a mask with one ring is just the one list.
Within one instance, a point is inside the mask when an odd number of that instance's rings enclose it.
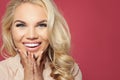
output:
{"label": "woman's two dark-nailed hands pressed together below her chin", "polygon": [[24,67],[24,80],[43,80],[44,61],[41,61],[42,53],[36,58],[33,53],[23,53],[19,50],[21,63]]}

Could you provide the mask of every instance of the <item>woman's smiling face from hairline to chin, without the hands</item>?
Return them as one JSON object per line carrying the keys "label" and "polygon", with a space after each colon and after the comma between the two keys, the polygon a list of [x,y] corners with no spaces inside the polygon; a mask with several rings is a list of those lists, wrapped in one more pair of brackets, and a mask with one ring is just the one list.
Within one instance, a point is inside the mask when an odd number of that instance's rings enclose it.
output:
{"label": "woman's smiling face from hairline to chin, without the hands", "polygon": [[23,52],[40,54],[49,45],[45,8],[23,3],[15,9],[11,33],[15,47]]}

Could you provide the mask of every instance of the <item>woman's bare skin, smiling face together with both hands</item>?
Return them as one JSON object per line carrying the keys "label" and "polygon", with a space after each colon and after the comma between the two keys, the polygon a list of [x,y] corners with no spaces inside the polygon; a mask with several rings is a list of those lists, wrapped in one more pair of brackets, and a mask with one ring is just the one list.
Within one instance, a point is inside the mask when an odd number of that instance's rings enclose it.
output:
{"label": "woman's bare skin, smiling face together with both hands", "polygon": [[42,54],[49,45],[45,8],[23,3],[15,9],[11,33],[24,67],[24,80],[43,80]]}

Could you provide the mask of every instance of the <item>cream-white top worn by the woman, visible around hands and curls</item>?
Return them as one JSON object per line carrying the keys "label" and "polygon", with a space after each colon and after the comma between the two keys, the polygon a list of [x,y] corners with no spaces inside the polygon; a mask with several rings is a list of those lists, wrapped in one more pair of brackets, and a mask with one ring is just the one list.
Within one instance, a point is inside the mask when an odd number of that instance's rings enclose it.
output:
{"label": "cream-white top worn by the woman, visible around hands and curls", "polygon": [[[44,80],[54,80],[50,73],[50,66],[45,65],[45,70],[43,71]],[[77,64],[75,64],[73,75],[75,80],[82,80],[81,71]],[[20,63],[19,55],[0,62],[0,80],[24,80],[24,68]]]}

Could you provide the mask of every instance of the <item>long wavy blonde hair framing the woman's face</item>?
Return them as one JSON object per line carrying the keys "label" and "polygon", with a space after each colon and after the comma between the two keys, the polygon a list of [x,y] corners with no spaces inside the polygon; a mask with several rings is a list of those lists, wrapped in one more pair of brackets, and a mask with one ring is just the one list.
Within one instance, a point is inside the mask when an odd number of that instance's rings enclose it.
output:
{"label": "long wavy blonde hair framing the woman's face", "polygon": [[73,80],[74,77],[71,70],[74,66],[74,60],[69,55],[71,44],[70,31],[64,17],[58,11],[53,0],[11,0],[2,20],[2,49],[8,51],[11,56],[16,55],[10,29],[14,10],[21,3],[26,2],[44,6],[47,9],[50,43],[47,52],[51,61],[51,76],[55,80]]}

